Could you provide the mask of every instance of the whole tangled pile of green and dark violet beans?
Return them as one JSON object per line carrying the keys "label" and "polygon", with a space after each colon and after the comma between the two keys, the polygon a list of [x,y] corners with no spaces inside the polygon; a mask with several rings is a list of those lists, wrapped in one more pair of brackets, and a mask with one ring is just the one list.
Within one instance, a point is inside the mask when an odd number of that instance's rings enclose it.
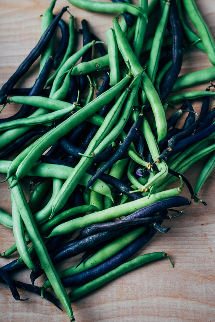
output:
{"label": "whole tangled pile of green and dark violet beans", "polygon": [[[107,30],[107,52],[86,20],[80,30],[83,47],[75,52],[74,17],[68,7],[54,16],[55,2],[42,16],[39,42],[0,90],[3,108],[22,104],[13,116],[0,119],[0,172],[6,174],[12,203],[12,216],[1,210],[0,223],[13,229],[15,238],[1,256],[17,250],[20,255],[0,268],[0,282],[17,300],[17,288],[24,288],[60,308],[47,291],[52,287],[73,321],[71,301],[146,262],[168,257],[156,252],[127,261],[157,230],[169,230],[162,222],[181,214],[171,208],[190,204],[178,196],[183,184],[191,199],[206,205],[197,195],[215,165],[215,113],[209,112],[215,43],[194,0],[152,0],[150,5],[139,0],[139,7],[123,0],[69,0],[85,10],[118,13],[113,29]],[[186,24],[185,10],[199,36]],[[160,19],[154,36],[145,39],[155,11]],[[62,20],[66,12],[69,25]],[[62,36],[54,52],[57,26]],[[183,54],[192,46],[206,52],[213,66],[178,76]],[[92,48],[99,57],[93,59]],[[33,86],[14,88],[39,56]],[[103,76],[100,85],[98,75]],[[209,82],[205,91],[169,95],[204,82]],[[192,106],[196,98],[202,98],[199,115]],[[166,119],[167,106],[180,101],[180,109]],[[187,116],[179,128],[182,114]],[[193,189],[183,172],[206,155]],[[23,178],[30,185],[29,202]],[[177,178],[180,186],[166,190]],[[63,235],[77,230],[76,239],[62,243]],[[76,266],[56,271],[57,263],[83,251]],[[26,267],[32,285],[10,276]],[[39,288],[34,282],[43,273],[47,281]],[[65,287],[71,286],[76,288],[67,294]]]}

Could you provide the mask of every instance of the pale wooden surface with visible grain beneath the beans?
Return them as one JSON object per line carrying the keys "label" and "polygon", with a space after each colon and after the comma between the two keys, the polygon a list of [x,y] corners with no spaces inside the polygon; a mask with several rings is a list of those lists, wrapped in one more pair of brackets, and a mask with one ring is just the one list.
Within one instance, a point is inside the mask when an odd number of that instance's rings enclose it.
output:
{"label": "pale wooden surface with visible grain beneath the beans", "polygon": [[[137,3],[135,0],[133,3]],[[215,7],[212,0],[196,0],[196,3],[215,37]],[[62,6],[68,5],[66,0],[58,0],[54,8],[57,14]],[[49,0],[1,0],[0,4],[0,86],[12,75],[18,65],[28,55],[40,37],[40,15],[49,6]],[[85,18],[92,32],[105,41],[105,32],[112,25],[113,15],[92,14],[69,5],[70,12],[76,18],[77,29],[81,27],[81,19]],[[68,21],[68,14],[63,18]],[[194,48],[184,55],[181,74],[210,67],[206,55]],[[37,76],[38,62],[19,82],[18,86],[30,87]],[[207,84],[195,86],[193,89],[205,90]],[[188,91],[185,89],[184,91]],[[199,110],[201,101],[194,103]],[[211,108],[213,100],[211,100]],[[1,117],[6,117],[18,110],[18,106],[6,106]],[[171,110],[170,110],[171,112]],[[185,175],[195,185],[196,177],[204,164],[201,160],[192,166]],[[1,175],[1,178],[4,178]],[[153,251],[166,251],[175,263],[171,268],[167,259],[154,262],[132,271],[85,298],[72,303],[76,322],[87,321],[215,321],[215,172],[204,184],[200,197],[208,204],[192,202],[184,207],[184,215],[166,221],[164,226],[171,227],[167,234],[157,233],[138,255]],[[177,186],[178,182],[172,186]],[[10,192],[8,183],[0,185],[1,208],[11,213]],[[29,190],[26,187],[26,195]],[[182,193],[189,198],[186,188]],[[13,232],[0,227],[0,252],[10,247]],[[0,259],[0,265],[17,258]],[[79,258],[79,257],[78,257]],[[77,258],[70,264],[77,263]],[[64,264],[68,266],[68,264]],[[14,274],[14,279],[30,283],[29,271]],[[41,285],[39,279],[37,285]],[[67,290],[69,291],[69,290]],[[16,302],[9,289],[0,285],[0,321],[25,322],[68,321],[65,311],[62,313],[52,304],[35,294],[28,294],[27,302]],[[25,291],[20,290],[22,298]]]}

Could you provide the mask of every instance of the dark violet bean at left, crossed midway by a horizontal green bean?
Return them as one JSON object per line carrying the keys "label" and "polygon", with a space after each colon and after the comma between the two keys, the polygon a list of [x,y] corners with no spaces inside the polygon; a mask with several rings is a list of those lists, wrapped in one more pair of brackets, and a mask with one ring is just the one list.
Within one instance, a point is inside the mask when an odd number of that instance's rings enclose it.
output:
{"label": "dark violet bean at left, crossed midway by a horizontal green bean", "polygon": [[[40,75],[38,76],[37,80],[33,84],[33,87],[30,93],[28,94],[28,96],[36,96],[41,94],[42,89],[45,86],[45,83],[48,79],[49,71],[52,67],[52,64],[53,64],[53,59],[51,56],[49,56],[43,69],[40,72]],[[20,108],[20,110],[17,113],[15,113],[13,116],[10,116],[8,118],[0,118],[0,123],[13,121],[18,118],[27,117],[30,114],[31,109],[32,107],[30,105],[22,104],[22,107]]]}

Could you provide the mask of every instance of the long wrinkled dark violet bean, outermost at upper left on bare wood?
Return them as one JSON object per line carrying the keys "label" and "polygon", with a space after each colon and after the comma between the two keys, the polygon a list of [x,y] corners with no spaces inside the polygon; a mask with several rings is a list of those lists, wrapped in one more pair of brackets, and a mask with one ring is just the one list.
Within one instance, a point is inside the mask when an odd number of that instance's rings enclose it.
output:
{"label": "long wrinkled dark violet bean, outermost at upper left on bare wood", "polygon": [[64,12],[67,11],[67,7],[63,7],[59,14],[53,19],[49,27],[40,37],[37,45],[31,50],[29,55],[24,59],[24,61],[20,64],[14,74],[9,78],[8,81],[2,86],[0,90],[0,104],[5,104],[7,100],[8,91],[10,91],[17,81],[29,70],[33,62],[40,56],[41,52],[46,47],[47,43],[49,43],[53,33],[58,25],[58,21]]}

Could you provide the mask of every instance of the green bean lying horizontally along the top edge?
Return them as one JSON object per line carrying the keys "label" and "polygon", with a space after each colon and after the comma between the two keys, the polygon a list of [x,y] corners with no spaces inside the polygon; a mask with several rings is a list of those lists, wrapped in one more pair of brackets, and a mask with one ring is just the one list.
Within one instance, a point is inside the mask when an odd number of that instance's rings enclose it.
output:
{"label": "green bean lying horizontally along the top edge", "polygon": [[107,12],[107,13],[121,13],[121,12],[130,12],[135,16],[143,15],[141,8],[138,8],[135,5],[130,5],[127,3],[106,3],[98,1],[89,1],[89,0],[68,0],[72,5],[75,5],[78,8],[94,11],[94,12]]}

